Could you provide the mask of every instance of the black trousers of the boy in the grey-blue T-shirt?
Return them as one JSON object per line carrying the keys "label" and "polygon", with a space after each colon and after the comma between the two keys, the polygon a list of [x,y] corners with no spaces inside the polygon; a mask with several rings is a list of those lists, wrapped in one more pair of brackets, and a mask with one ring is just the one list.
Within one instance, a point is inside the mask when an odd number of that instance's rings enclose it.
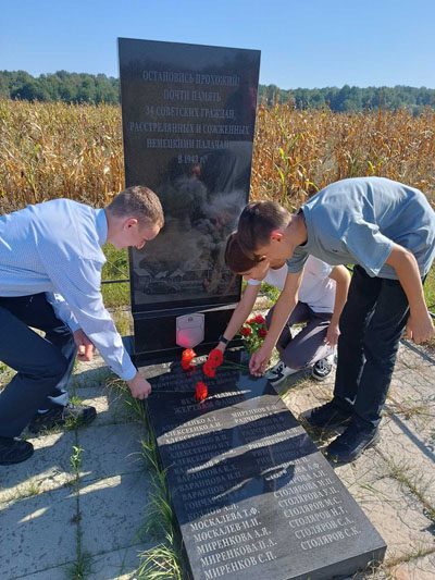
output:
{"label": "black trousers of the boy in the grey-blue T-shirt", "polygon": [[343,408],[352,406],[361,427],[381,421],[408,314],[399,281],[370,277],[355,268],[340,317],[334,398]]}

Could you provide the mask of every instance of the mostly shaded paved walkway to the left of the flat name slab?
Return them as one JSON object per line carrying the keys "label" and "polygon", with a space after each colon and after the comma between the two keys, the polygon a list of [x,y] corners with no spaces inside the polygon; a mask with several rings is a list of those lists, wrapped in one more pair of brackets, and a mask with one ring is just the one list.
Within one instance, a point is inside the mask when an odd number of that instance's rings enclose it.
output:
{"label": "mostly shaded paved walkway to the left of the flat name slab", "polygon": [[1,580],[133,578],[138,554],[153,544],[141,533],[149,504],[145,427],[105,386],[102,361],[92,367],[77,365],[71,393],[97,407],[97,419],[29,436],[34,456],[0,466]]}

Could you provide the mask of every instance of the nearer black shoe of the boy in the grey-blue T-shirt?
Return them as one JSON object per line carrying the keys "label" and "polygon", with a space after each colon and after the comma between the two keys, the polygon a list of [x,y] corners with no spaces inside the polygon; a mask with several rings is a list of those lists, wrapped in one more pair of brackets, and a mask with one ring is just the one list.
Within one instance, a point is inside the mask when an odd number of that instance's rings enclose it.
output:
{"label": "nearer black shoe of the boy in the grey-blue T-shirt", "polygon": [[326,455],[335,464],[348,464],[355,461],[366,448],[376,445],[380,439],[377,427],[364,429],[352,422],[326,447]]}

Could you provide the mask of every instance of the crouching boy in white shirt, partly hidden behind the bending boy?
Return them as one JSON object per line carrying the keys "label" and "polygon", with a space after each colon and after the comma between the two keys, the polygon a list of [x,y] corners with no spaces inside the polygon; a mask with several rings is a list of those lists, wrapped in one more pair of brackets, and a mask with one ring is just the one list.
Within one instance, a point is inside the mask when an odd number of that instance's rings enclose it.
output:
{"label": "crouching boy in white shirt, partly hidden behind the bending boy", "polygon": [[[262,282],[268,282],[279,291],[284,288],[288,268],[283,260],[256,262],[241,250],[237,236],[229,236],[225,261],[233,272],[244,275],[247,287],[236,307],[217,348],[225,345],[238,332],[249,317]],[[314,379],[322,381],[331,372],[332,360],[339,336],[338,321],[347,299],[350,274],[343,266],[332,266],[309,257],[299,288],[299,301],[290,313],[276,343],[279,361],[266,373],[272,384],[281,383],[286,377],[300,369],[311,367]],[[268,314],[268,325],[273,308]],[[293,336],[294,324],[304,324]]]}

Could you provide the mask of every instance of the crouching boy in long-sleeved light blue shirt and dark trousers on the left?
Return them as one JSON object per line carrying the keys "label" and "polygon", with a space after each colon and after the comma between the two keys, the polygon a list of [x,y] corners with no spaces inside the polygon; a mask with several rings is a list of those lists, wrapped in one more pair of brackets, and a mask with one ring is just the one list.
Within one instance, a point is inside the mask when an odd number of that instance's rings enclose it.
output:
{"label": "crouching boy in long-sleeved light blue shirt and dark trousers on the left", "polygon": [[0,465],[32,456],[32,444],[17,439],[28,423],[38,432],[71,416],[95,418],[92,407],[67,405],[77,351],[90,360],[97,347],[133,396],[149,395],[102,301],[101,246],[140,249],[162,225],[159,198],[141,186],[104,209],[54,199],[0,217],[0,360],[16,371],[0,393]]}

